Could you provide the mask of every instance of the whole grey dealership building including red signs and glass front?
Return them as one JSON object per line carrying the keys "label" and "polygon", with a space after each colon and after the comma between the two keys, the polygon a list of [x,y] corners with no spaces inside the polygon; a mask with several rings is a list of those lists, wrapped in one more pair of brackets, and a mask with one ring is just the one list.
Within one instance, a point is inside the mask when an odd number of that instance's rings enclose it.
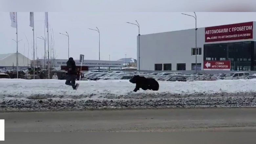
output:
{"label": "whole grey dealership building including red signs and glass front", "polygon": [[197,54],[198,70],[256,70],[255,24],[246,22],[140,35],[137,68],[140,64],[140,70],[196,70]]}

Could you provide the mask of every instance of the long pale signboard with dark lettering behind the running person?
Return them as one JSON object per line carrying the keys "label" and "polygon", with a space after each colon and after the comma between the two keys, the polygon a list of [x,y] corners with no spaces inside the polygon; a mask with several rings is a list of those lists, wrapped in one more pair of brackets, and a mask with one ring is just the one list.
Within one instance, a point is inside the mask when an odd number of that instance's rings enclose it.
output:
{"label": "long pale signboard with dark lettering behind the running person", "polygon": [[[36,61],[36,60],[35,60]],[[65,66],[67,65],[68,60],[64,59],[55,59],[55,60],[45,60],[45,64],[48,63],[53,66]],[[33,61],[31,61],[33,63]],[[44,65],[44,60],[37,60],[38,65]],[[79,60],[75,60],[75,64],[78,66],[81,65],[81,62]],[[98,60],[84,60],[82,63],[82,66],[100,66],[100,67],[122,67],[123,62],[122,61],[98,61]]]}

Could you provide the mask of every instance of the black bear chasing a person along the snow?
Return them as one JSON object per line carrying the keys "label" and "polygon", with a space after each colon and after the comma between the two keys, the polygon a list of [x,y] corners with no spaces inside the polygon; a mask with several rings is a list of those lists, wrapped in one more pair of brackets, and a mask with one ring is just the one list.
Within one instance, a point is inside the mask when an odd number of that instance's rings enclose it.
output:
{"label": "black bear chasing a person along the snow", "polygon": [[145,78],[145,77],[141,77],[139,75],[135,75],[129,81],[131,83],[136,83],[136,87],[133,90],[134,92],[137,92],[140,88],[143,90],[149,89],[149,90],[153,90],[153,91],[157,91],[159,89],[158,82],[152,78]]}

